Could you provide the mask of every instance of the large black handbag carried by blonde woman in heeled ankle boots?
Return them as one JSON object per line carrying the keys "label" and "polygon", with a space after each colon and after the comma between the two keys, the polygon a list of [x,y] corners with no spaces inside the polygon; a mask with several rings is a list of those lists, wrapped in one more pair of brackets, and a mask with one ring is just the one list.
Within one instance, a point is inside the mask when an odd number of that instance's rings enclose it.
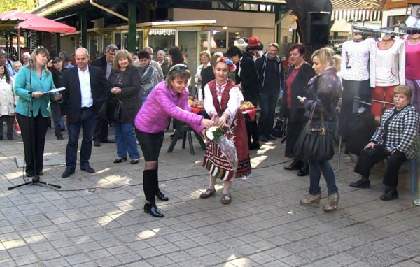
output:
{"label": "large black handbag carried by blonde woman in heeled ankle boots", "polygon": [[326,161],[334,156],[332,137],[328,127],[324,124],[323,113],[321,113],[321,125],[318,128],[312,127],[316,102],[311,106],[311,113],[308,122],[304,125],[302,133],[293,147],[293,154],[297,159],[310,159],[315,161]]}

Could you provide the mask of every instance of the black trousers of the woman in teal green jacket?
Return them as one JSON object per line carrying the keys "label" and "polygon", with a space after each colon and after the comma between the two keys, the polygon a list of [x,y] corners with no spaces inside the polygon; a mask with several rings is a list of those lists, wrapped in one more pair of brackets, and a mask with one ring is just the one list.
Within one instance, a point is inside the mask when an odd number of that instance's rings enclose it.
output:
{"label": "black trousers of the woman in teal green jacket", "polygon": [[[25,149],[26,173],[40,173],[43,169],[43,152],[45,148],[45,136],[48,128],[48,117],[42,117],[41,111],[32,119],[17,113],[16,118],[22,132],[23,147]],[[34,145],[32,145],[34,138]],[[34,159],[35,154],[35,159]]]}

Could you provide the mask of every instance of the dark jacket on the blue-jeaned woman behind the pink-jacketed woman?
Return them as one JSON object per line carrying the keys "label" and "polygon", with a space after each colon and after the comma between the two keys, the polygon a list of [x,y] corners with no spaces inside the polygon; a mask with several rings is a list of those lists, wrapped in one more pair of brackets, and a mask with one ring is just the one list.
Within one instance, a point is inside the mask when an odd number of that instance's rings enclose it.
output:
{"label": "dark jacket on the blue-jeaned woman behind the pink-jacketed woman", "polygon": [[[109,82],[113,86],[119,86],[118,71],[111,71],[109,75]],[[123,73],[123,78],[121,79],[121,94],[116,96],[120,99],[123,112],[121,113],[120,122],[134,122],[134,118],[139,112],[140,109],[140,85],[141,76],[139,68],[136,66],[131,66],[127,68]]]}

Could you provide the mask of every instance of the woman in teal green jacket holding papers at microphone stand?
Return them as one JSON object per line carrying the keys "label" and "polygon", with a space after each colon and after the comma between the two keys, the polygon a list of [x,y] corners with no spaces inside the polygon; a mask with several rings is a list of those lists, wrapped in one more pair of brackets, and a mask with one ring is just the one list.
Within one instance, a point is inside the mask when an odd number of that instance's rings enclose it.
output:
{"label": "woman in teal green jacket holding papers at microphone stand", "polygon": [[[36,48],[32,52],[31,62],[20,68],[15,76],[15,94],[19,96],[15,113],[22,131],[27,177],[43,175],[45,136],[51,115],[50,100],[59,101],[62,98],[57,92],[45,94],[55,89],[52,75],[47,68],[48,55],[46,48]],[[33,108],[30,105],[31,100]],[[34,117],[33,125],[31,117]]]}

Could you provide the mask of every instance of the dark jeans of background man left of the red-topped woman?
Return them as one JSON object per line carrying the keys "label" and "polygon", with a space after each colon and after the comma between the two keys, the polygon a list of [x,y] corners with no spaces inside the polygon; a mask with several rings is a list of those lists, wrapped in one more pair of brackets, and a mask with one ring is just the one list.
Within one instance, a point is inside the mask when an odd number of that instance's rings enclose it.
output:
{"label": "dark jeans of background man left of the red-topped woman", "polygon": [[277,99],[279,99],[279,92],[276,90],[264,91],[260,95],[260,120],[258,121],[259,135],[271,135]]}

